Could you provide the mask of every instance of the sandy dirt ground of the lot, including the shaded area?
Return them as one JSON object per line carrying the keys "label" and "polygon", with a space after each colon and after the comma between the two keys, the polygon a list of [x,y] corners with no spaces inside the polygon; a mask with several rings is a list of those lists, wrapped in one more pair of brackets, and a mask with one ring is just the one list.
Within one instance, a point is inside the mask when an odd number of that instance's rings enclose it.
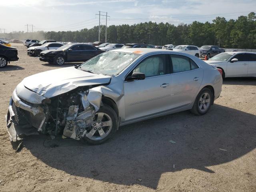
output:
{"label": "sandy dirt ground of the lot, including the shaded area", "polygon": [[13,46],[20,59],[0,69],[1,192],[256,191],[256,78],[225,79],[204,116],[185,111],[122,126],[99,146],[28,136],[16,152],[4,120],[12,91],[59,67]]}

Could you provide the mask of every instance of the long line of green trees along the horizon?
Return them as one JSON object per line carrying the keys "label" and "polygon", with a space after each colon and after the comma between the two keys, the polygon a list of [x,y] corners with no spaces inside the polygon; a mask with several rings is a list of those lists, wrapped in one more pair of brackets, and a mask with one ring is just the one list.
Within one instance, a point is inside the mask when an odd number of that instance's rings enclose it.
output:
{"label": "long line of green trees along the horizon", "polygon": [[[222,48],[256,49],[256,15],[239,16],[238,19],[226,20],[216,17],[210,22],[194,21],[178,26],[169,23],[144,22],[139,24],[111,25],[107,29],[107,42],[142,43],[153,45],[190,44],[196,46],[219,45]],[[54,39],[61,42],[94,42],[98,40],[98,26],[77,31],[38,31],[32,33],[12,32],[7,38]],[[23,39],[23,38],[22,38]],[[105,40],[105,30],[101,31],[100,40]]]}

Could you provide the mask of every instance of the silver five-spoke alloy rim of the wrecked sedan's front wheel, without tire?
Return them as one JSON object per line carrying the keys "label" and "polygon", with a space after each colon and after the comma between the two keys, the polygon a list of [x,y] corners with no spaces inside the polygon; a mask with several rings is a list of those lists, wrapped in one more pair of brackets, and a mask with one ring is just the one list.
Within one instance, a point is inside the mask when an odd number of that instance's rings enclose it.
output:
{"label": "silver five-spoke alloy rim of the wrecked sedan's front wheel, without tire", "polygon": [[86,137],[91,140],[102,140],[110,134],[112,119],[108,114],[102,112],[96,113],[95,116],[96,118],[92,122],[92,129],[86,134]]}

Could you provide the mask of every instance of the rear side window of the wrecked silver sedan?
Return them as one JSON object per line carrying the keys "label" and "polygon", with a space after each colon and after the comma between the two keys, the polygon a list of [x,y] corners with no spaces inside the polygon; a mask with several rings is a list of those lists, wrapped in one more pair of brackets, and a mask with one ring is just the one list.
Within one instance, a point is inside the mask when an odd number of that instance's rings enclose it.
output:
{"label": "rear side window of the wrecked silver sedan", "polygon": [[174,73],[197,69],[197,64],[186,56],[171,55],[172,70]]}

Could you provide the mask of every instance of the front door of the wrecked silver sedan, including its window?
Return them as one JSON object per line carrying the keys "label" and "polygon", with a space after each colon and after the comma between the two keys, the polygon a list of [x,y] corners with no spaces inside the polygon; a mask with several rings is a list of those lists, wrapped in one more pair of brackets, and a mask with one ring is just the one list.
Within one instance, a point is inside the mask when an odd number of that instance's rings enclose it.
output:
{"label": "front door of the wrecked silver sedan, including its window", "polygon": [[171,75],[168,55],[148,56],[133,72],[142,72],[144,80],[124,81],[125,121],[170,109]]}

